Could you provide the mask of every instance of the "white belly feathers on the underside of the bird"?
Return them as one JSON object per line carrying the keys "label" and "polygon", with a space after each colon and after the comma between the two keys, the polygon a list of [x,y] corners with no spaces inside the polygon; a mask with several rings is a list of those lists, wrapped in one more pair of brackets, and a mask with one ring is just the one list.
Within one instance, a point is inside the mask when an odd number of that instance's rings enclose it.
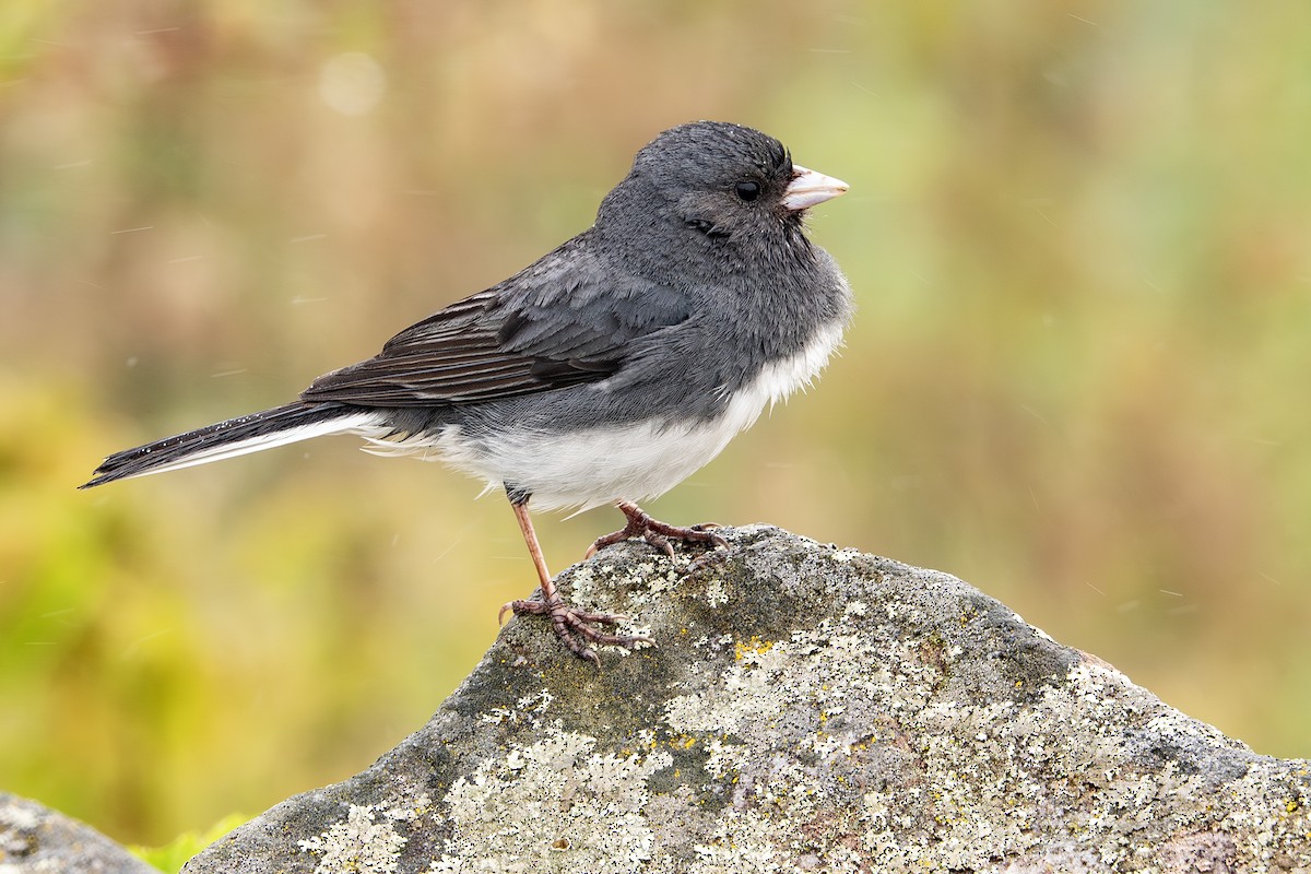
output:
{"label": "white belly feathers on the underside of the bird", "polygon": [[375,442],[368,451],[422,452],[485,480],[488,487],[511,482],[530,490],[532,506],[543,510],[646,501],[665,494],[717,456],[759,418],[766,405],[809,385],[840,339],[842,325],[830,326],[800,354],[767,364],[718,418],[708,422],[641,422],[573,434],[524,428],[501,435],[493,446],[472,440],[459,426],[448,425],[435,438]]}

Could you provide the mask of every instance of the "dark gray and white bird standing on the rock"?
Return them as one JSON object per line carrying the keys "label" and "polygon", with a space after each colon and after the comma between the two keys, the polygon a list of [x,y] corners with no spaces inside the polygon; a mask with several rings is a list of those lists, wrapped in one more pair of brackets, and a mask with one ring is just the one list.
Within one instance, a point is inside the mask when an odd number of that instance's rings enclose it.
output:
{"label": "dark gray and white bird standing on the rock", "polygon": [[565,600],[530,502],[617,507],[624,527],[586,557],[633,537],[671,557],[671,540],[726,546],[716,525],[662,523],[638,502],[716,457],[840,346],[852,292],[804,219],[847,190],[751,127],[673,127],[637,152],[590,228],[509,279],[290,404],[117,452],[79,487],[330,434],[439,459],[505,491],[532,558],[539,592],[499,618],[545,616],[569,651],[599,664],[597,646],[652,641],[612,633],[617,613]]}

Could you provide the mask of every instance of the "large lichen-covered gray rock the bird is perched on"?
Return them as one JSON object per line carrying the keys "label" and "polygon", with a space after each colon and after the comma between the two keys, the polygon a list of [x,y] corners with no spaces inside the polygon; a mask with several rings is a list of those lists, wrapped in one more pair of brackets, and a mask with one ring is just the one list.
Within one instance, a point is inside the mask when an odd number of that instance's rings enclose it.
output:
{"label": "large lichen-covered gray rock the bird is perched on", "polygon": [[658,647],[517,618],[372,768],[189,874],[1304,871],[1311,764],[1257,756],[965,583],[775,528],[687,577],[562,577]]}

